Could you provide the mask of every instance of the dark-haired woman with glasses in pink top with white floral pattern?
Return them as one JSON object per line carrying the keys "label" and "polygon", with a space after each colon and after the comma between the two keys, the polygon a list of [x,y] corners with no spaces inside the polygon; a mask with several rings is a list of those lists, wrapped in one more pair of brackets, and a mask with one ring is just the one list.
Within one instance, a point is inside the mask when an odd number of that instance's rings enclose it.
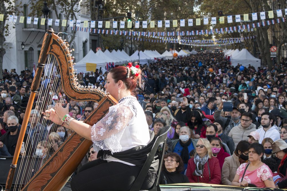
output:
{"label": "dark-haired woman with glasses in pink top with white floral pattern", "polygon": [[275,188],[273,173],[262,162],[263,153],[264,148],[259,143],[252,143],[248,147],[250,163],[243,163],[238,167],[232,186]]}

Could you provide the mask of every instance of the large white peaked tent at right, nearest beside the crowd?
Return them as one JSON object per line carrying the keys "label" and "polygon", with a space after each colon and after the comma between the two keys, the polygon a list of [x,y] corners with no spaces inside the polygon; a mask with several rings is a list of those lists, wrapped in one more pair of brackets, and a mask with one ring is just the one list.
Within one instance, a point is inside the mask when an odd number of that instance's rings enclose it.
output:
{"label": "large white peaked tent at right, nearest beside the crowd", "polygon": [[261,66],[261,60],[252,56],[250,52],[248,52],[248,50],[246,50],[245,48],[242,49],[235,56],[231,57],[232,66],[237,66],[238,63],[244,67],[248,67],[248,65],[250,64],[251,66],[254,66],[256,70],[258,67]]}

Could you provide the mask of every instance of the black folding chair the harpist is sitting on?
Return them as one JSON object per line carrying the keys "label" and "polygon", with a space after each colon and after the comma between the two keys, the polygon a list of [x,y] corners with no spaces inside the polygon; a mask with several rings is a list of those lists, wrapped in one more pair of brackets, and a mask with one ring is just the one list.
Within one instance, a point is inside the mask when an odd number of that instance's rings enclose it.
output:
{"label": "black folding chair the harpist is sitting on", "polygon": [[154,160],[154,157],[156,155],[156,151],[158,150],[158,147],[162,144],[162,151],[160,153],[160,158],[159,158],[157,177],[156,177],[156,180],[154,181],[153,188],[155,188],[157,186],[158,178],[159,178],[160,172],[161,172],[164,151],[165,151],[165,147],[166,147],[167,133],[170,130],[170,128],[171,127],[169,127],[169,126],[168,127],[162,127],[158,131],[156,141],[154,142],[152,150],[150,151],[150,154],[148,155],[148,158],[147,158],[143,168],[141,169],[141,172],[139,173],[139,175],[135,179],[135,182],[133,183],[133,186],[131,187],[130,190],[140,190],[140,188],[141,188],[141,186],[142,186],[142,184],[146,178],[146,175],[148,174],[148,170],[150,169],[152,161]]}

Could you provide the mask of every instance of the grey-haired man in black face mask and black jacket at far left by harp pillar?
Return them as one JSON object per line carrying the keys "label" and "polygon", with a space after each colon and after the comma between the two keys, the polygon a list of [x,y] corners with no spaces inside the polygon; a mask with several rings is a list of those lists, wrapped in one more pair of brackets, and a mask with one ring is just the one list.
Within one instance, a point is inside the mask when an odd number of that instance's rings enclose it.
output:
{"label": "grey-haired man in black face mask and black jacket at far left by harp pillar", "polygon": [[[7,119],[7,133],[0,137],[0,141],[6,145],[8,152],[13,156],[15,153],[16,144],[18,141],[18,137],[20,135],[20,129],[18,129],[19,121],[15,115],[8,117]],[[28,134],[25,133],[23,142],[25,143],[25,147],[29,147],[29,143],[27,143]],[[28,150],[28,148],[26,149]],[[20,153],[22,156],[24,153]]]}

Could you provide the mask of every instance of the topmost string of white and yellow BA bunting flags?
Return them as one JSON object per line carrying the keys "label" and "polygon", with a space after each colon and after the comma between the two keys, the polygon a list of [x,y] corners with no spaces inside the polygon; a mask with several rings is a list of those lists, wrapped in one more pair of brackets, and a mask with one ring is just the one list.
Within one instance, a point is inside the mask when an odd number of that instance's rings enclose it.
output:
{"label": "topmost string of white and yellow BA bunting flags", "polygon": [[[228,15],[228,16],[221,16],[221,17],[204,17],[204,18],[196,18],[196,19],[177,19],[177,20],[158,20],[158,21],[150,21],[149,23],[149,27],[150,28],[155,28],[157,26],[157,28],[162,28],[163,24],[165,28],[168,27],[178,27],[178,22],[179,22],[179,26],[180,27],[185,27],[186,21],[187,21],[187,26],[193,26],[194,25],[194,20],[195,20],[195,25],[196,26],[200,26],[201,25],[201,21],[203,20],[203,25],[208,25],[210,22],[211,24],[217,24],[218,20],[220,24],[224,24],[225,23],[225,18],[227,18],[227,23],[233,23],[235,22],[252,22],[252,21],[257,21],[260,17],[261,20],[265,20],[265,19],[273,19],[275,18],[275,14],[277,15],[277,19],[278,22],[280,22],[280,18],[282,19],[283,22],[285,22],[285,18],[284,15],[282,13],[282,11],[284,11],[285,15],[287,15],[287,9],[278,9],[278,10],[272,10],[272,11],[263,11],[263,12],[258,12],[258,13],[247,13],[247,14],[240,14],[240,15]],[[268,13],[268,14],[267,14]],[[259,17],[258,17],[259,14]],[[249,19],[249,15],[251,15],[250,18],[252,18],[252,20]],[[241,17],[243,18],[243,20],[241,19]],[[16,23],[18,21],[18,16],[17,15],[4,15],[4,14],[0,14],[0,21],[3,21],[5,19],[8,19],[8,21]],[[233,20],[235,18],[235,20]],[[38,22],[40,21],[40,25],[45,25],[45,18],[38,18],[38,17],[24,17],[24,16],[20,16],[19,19],[19,23],[24,23],[24,21],[26,21],[27,24],[31,24],[31,22],[33,22],[33,24],[38,24]],[[80,30],[83,30],[83,28],[85,29],[85,31],[90,31],[89,29],[93,29],[96,28],[96,22],[98,23],[98,27],[97,28],[103,28],[105,26],[105,28],[110,28],[112,27],[114,28],[120,28],[123,29],[125,27],[127,28],[132,28],[133,27],[133,23],[135,24],[135,28],[139,28],[140,27],[140,23],[141,23],[141,27],[142,28],[148,28],[148,21],[83,21],[81,22],[81,20],[66,20],[66,19],[47,19],[47,23],[49,26],[53,25],[53,22],[55,24],[55,26],[61,26],[65,27],[67,26],[67,24],[69,25],[69,27],[80,27]],[[268,22],[274,22],[273,20],[267,20],[267,21],[262,21],[262,22],[267,22],[265,23],[265,25],[268,25]],[[89,26],[89,22],[90,22],[90,26]],[[83,23],[83,26],[81,27],[81,23]],[[120,23],[120,25],[118,26],[118,23]],[[127,23],[127,24],[126,24]],[[258,22],[260,23],[260,22]],[[105,24],[105,25],[104,25]],[[172,24],[172,25],[171,25]],[[262,23],[263,25],[263,23]],[[254,28],[254,27],[253,27]],[[91,31],[90,31],[91,32]]]}

